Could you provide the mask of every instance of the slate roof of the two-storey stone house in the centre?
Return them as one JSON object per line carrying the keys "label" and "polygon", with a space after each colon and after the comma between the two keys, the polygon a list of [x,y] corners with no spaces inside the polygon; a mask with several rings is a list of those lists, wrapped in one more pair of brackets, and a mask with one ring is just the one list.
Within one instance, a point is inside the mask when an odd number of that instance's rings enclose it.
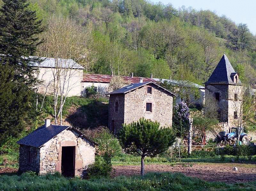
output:
{"label": "slate roof of the two-storey stone house in the centre", "polygon": [[110,92],[110,93],[108,93],[108,94],[106,94],[106,95],[112,95],[112,94],[126,94],[126,93],[128,93],[128,92],[130,92],[130,91],[132,91],[132,90],[135,90],[135,89],[137,89],[137,88],[140,88],[140,87],[142,87],[142,86],[145,86],[145,85],[148,85],[148,84],[151,84],[151,83],[154,84],[154,85],[156,85],[156,86],[158,86],[159,88],[161,88],[161,89],[167,91],[168,93],[170,93],[170,94],[176,96],[174,93],[171,93],[169,90],[167,90],[167,89],[165,89],[165,88],[159,86],[159,85],[156,84],[155,82],[131,83],[131,84],[128,85],[128,86],[125,86],[125,87],[122,87],[122,88],[117,89],[117,90],[115,90],[115,91],[112,91],[112,92]]}

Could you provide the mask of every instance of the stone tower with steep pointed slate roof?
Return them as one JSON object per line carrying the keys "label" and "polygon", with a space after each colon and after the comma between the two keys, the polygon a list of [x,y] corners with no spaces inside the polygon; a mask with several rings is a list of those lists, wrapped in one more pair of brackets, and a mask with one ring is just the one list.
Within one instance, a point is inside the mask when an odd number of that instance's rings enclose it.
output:
{"label": "stone tower with steep pointed slate roof", "polygon": [[227,123],[229,127],[237,126],[241,119],[241,92],[239,76],[224,53],[205,82],[205,97],[206,104],[216,101],[220,122]]}

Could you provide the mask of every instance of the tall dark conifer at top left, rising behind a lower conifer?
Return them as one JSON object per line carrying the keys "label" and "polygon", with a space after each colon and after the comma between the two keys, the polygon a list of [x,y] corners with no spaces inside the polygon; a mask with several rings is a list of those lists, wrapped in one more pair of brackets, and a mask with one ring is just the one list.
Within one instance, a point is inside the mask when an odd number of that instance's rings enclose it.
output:
{"label": "tall dark conifer at top left, rising behind a lower conifer", "polygon": [[[33,87],[35,77],[29,63],[39,59],[33,56],[42,43],[38,35],[43,32],[42,21],[29,10],[27,0],[2,0],[0,9],[0,59],[15,70],[13,80]],[[26,76],[26,78],[24,78]]]}

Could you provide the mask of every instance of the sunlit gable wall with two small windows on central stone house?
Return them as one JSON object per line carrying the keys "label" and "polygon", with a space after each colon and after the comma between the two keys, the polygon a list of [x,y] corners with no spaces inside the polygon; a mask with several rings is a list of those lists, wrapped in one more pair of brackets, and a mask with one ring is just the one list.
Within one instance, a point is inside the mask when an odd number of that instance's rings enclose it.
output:
{"label": "sunlit gable wall with two small windows on central stone house", "polygon": [[[152,87],[152,94],[147,93]],[[146,111],[146,103],[152,103],[152,112]],[[147,85],[130,91],[125,95],[124,123],[131,123],[144,117],[160,123],[160,126],[172,125],[173,97],[156,85]]]}

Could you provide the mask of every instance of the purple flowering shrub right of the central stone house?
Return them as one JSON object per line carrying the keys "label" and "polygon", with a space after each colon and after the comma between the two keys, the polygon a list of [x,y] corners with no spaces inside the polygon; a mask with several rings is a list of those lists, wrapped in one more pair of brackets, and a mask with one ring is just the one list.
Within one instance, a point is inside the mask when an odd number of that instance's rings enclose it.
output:
{"label": "purple flowering shrub right of the central stone house", "polygon": [[175,105],[173,111],[173,130],[177,137],[185,138],[189,130],[189,108],[184,102]]}

